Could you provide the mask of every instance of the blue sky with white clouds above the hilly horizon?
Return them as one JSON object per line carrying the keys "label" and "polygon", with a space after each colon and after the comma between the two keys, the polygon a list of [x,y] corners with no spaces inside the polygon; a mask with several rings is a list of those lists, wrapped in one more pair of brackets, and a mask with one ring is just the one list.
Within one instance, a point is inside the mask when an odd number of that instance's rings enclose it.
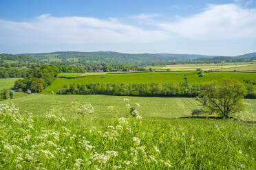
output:
{"label": "blue sky with white clouds above the hilly horizon", "polygon": [[0,53],[256,51],[256,0],[1,0]]}

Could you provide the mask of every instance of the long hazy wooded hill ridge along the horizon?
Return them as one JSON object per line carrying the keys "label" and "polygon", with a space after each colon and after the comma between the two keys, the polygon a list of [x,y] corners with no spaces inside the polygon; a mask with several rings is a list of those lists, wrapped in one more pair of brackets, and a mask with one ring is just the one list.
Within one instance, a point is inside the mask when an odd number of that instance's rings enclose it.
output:
{"label": "long hazy wooded hill ridge along the horizon", "polygon": [[242,56],[206,56],[197,54],[176,54],[176,53],[118,53],[113,51],[79,52],[79,51],[56,51],[52,53],[24,53],[26,56],[36,60],[55,62],[88,62],[108,64],[139,64],[147,65],[166,62],[178,62],[189,60],[215,61],[232,60],[235,58],[253,58],[256,53],[248,53]]}

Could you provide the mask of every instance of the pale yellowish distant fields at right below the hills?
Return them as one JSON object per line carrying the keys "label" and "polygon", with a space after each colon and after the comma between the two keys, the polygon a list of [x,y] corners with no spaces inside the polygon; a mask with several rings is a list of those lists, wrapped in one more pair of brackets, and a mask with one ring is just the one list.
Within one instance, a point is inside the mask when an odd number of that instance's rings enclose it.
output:
{"label": "pale yellowish distant fields at right below the hills", "polygon": [[[247,69],[247,67],[249,67]],[[171,71],[196,71],[196,69],[204,71],[248,71],[250,68],[256,68],[256,64],[173,64],[162,67],[160,70]]]}

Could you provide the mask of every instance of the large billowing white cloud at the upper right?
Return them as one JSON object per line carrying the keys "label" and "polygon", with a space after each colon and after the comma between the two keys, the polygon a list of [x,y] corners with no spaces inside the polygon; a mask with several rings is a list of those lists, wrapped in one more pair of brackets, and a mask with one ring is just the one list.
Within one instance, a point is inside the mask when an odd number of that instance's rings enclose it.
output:
{"label": "large billowing white cloud at the upper right", "polygon": [[170,34],[200,40],[256,38],[256,10],[239,5],[209,5],[200,14],[184,17],[174,23],[158,23]]}

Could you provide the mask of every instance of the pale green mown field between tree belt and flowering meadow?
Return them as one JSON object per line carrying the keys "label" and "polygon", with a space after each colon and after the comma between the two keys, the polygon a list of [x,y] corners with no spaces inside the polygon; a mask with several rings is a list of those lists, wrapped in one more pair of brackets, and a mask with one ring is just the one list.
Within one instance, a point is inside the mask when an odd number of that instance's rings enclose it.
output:
{"label": "pale green mown field between tree belt and flowering meadow", "polygon": [[[26,95],[26,94],[25,94]],[[15,97],[15,96],[14,96]],[[87,101],[94,106],[95,112],[100,117],[113,117],[107,106],[114,106],[120,112],[120,116],[124,116],[127,112],[123,99],[127,98],[132,104],[140,104],[138,108],[142,117],[148,118],[173,118],[191,116],[191,111],[200,108],[198,101],[193,98],[179,97],[122,97],[108,95],[28,95],[26,97],[15,97],[16,99],[8,99],[1,101],[8,103],[12,101],[17,107],[21,108],[21,112],[32,112],[40,115],[51,108],[60,109],[61,112],[69,113],[72,110],[72,102]],[[253,119],[256,120],[256,99],[244,99],[249,104],[248,110]],[[247,106],[247,105],[246,105]]]}

